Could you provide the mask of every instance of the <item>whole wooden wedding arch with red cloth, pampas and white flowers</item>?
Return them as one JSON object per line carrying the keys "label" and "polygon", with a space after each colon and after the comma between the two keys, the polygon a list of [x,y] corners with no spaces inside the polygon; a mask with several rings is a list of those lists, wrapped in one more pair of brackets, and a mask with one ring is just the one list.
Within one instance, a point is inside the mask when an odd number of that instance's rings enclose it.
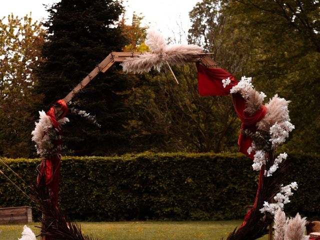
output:
{"label": "whole wooden wedding arch with red cloth, pampas and white flowers", "polygon": [[165,64],[170,68],[170,64],[195,62],[200,95],[232,95],[235,112],[242,122],[239,151],[252,158],[253,170],[259,171],[259,182],[252,209],[227,239],[257,239],[267,232],[270,235],[272,216],[289,202],[288,197],[293,194],[291,189],[297,189],[296,182],[282,185],[287,154],[275,155],[276,147],[294,128],[288,114],[289,101],[275,94],[268,103],[263,104],[266,96],[255,90],[251,77],[242,77],[237,81],[199,46],[167,45],[160,33],[154,31],[148,31],[145,43],[151,52],[111,52],[48,112],[40,112],[40,119],[32,131],[32,140],[42,162],[37,185],[32,188],[32,199],[42,211],[42,239],[90,239],[82,235],[80,227],[71,223],[57,205],[62,124],[68,121],[65,117],[67,105],[76,93],[116,62],[122,65],[123,71],[137,73],[149,71],[152,67],[159,70]]}

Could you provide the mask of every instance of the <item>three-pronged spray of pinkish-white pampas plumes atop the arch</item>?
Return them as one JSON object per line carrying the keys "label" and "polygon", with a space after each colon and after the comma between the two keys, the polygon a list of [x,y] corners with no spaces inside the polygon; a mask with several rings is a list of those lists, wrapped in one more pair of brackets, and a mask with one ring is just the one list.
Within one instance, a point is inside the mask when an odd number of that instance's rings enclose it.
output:
{"label": "three-pronged spray of pinkish-white pampas plumes atop the arch", "polygon": [[145,52],[136,58],[127,58],[121,65],[124,72],[141,73],[152,67],[160,70],[163,63],[183,64],[192,56],[202,53],[202,48],[193,44],[166,45],[162,35],[154,30],[148,30],[145,40],[151,52]]}

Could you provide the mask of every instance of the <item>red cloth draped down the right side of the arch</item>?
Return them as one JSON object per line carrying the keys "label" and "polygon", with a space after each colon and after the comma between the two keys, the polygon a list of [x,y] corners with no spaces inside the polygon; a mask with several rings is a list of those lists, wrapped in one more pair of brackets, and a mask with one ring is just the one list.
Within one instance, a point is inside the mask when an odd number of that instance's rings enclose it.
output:
{"label": "red cloth draped down the right side of the arch", "polygon": [[[199,63],[196,64],[196,67],[198,73],[198,89],[201,96],[229,95],[230,89],[238,84],[238,81],[234,78],[234,76],[222,68],[208,68],[200,65]],[[222,80],[227,78],[230,80],[230,83],[223,87]],[[247,149],[251,146],[252,139],[249,136],[243,135],[242,130],[248,129],[251,132],[255,132],[257,130],[255,124],[265,116],[267,108],[262,105],[261,108],[257,110],[253,115],[249,115],[244,111],[244,109],[246,108],[245,99],[239,93],[232,93],[232,98],[234,110],[242,122],[241,131],[239,133],[237,142],[239,145],[239,151],[253,159],[254,152],[251,152],[250,154],[247,152]],[[240,227],[246,224],[246,222],[250,218],[251,212],[255,208],[259,195],[259,189],[261,189],[262,187],[263,172],[264,167],[262,167],[260,170],[258,190],[256,192],[253,208],[245,215],[244,221]]]}

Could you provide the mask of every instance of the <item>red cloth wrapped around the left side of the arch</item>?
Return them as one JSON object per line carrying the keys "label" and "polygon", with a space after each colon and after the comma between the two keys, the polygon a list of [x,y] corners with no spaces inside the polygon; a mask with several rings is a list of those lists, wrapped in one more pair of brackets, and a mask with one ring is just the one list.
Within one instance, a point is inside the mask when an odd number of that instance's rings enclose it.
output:
{"label": "red cloth wrapped around the left side of the arch", "polygon": [[[56,116],[55,107],[61,109],[60,115]],[[45,185],[48,187],[51,201],[58,207],[58,193],[59,193],[59,179],[60,179],[60,160],[61,160],[61,151],[62,151],[62,128],[58,123],[58,119],[61,119],[66,116],[68,107],[64,100],[60,99],[52,106],[47,112],[46,115],[50,118],[53,127],[58,132],[58,139],[52,140],[53,143],[53,152],[47,158],[42,158],[41,164],[39,167],[39,174],[37,176],[37,182],[41,175],[45,176]],[[58,112],[59,113],[59,112]],[[58,114],[57,113],[57,114]]]}

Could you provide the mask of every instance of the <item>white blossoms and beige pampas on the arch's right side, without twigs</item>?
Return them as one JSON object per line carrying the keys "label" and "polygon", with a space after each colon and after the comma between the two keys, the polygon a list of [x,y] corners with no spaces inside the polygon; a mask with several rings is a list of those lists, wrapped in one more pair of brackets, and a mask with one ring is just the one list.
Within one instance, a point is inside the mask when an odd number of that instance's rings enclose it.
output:
{"label": "white blossoms and beige pampas on the arch's right side, without twigs", "polygon": [[[242,76],[237,85],[230,89],[230,93],[240,93],[246,101],[245,111],[249,114],[253,114],[259,110],[262,106],[262,102],[266,95],[261,91],[258,92],[254,89],[251,83],[251,77]],[[222,80],[223,87],[230,83],[230,80]],[[275,94],[269,102],[265,104],[267,108],[266,115],[256,123],[257,132],[245,131],[244,134],[250,135],[252,138],[252,144],[247,149],[248,154],[254,152],[253,155],[253,170],[259,171],[263,165],[266,165],[267,157],[266,152],[274,150],[279,144],[283,143],[289,136],[289,132],[294,129],[294,125],[290,122],[288,103],[284,98],[279,98]],[[261,135],[261,131],[264,132]],[[268,134],[265,134],[268,132]],[[261,141],[264,143],[261,144]],[[279,167],[279,164],[287,158],[285,152],[280,153],[275,159],[272,159],[272,165],[268,169],[264,170],[264,176],[272,176],[272,174]],[[291,188],[296,190],[296,182],[292,182],[289,185],[281,186],[280,192],[274,196],[276,203],[264,202],[263,208],[260,211],[269,212],[274,214],[275,211],[280,208],[283,209],[283,204],[289,202],[288,196],[292,195]],[[284,193],[284,194],[282,194]]]}

